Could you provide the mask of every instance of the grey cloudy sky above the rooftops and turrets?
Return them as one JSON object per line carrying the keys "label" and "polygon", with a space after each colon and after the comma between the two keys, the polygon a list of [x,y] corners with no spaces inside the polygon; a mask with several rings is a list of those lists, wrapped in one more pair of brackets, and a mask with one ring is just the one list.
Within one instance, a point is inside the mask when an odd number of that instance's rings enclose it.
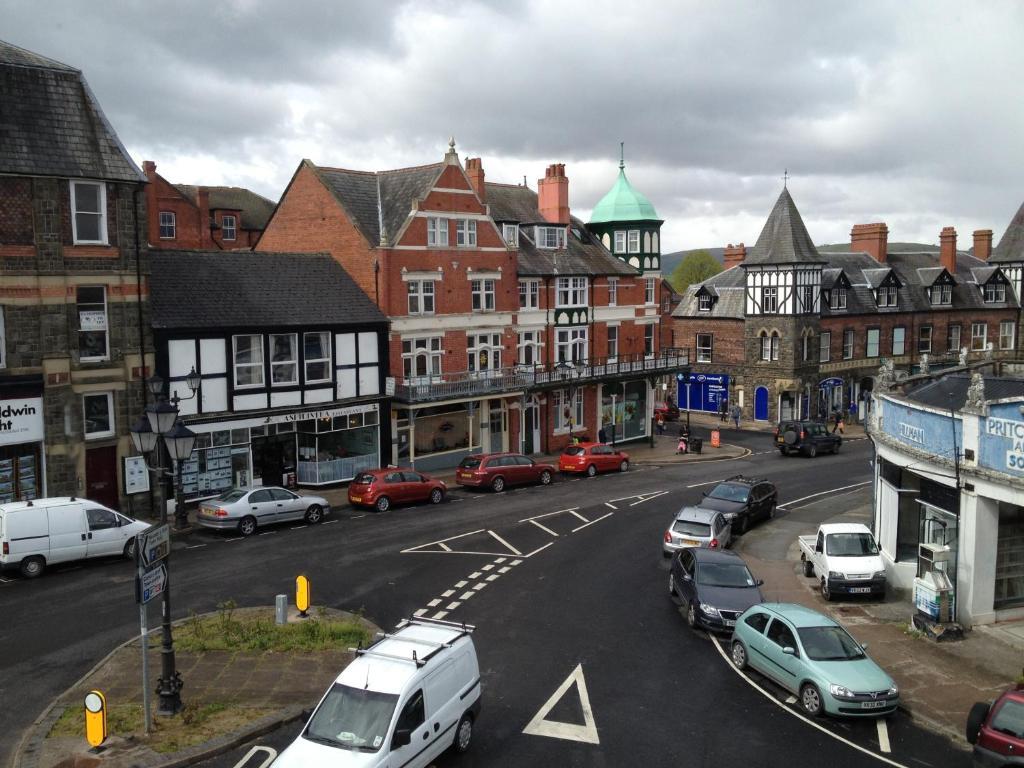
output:
{"label": "grey cloudy sky above the rooftops and turrets", "polygon": [[631,181],[664,250],[753,243],[788,169],[817,243],[996,241],[1024,201],[1024,4],[0,0],[0,38],[83,70],[132,157],[276,200],[302,158]]}

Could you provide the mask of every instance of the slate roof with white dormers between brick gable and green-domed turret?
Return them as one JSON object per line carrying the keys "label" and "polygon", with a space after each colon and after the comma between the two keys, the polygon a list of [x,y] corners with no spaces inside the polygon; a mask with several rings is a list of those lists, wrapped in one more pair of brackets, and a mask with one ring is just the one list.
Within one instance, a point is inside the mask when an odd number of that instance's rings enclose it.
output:
{"label": "slate roof with white dormers between brick gable and green-domed turret", "polygon": [[528,186],[486,183],[490,217],[498,222],[519,223],[519,274],[521,275],[636,275],[638,270],[612,256],[584,223],[570,216],[564,250],[538,248],[531,224],[547,224]]}

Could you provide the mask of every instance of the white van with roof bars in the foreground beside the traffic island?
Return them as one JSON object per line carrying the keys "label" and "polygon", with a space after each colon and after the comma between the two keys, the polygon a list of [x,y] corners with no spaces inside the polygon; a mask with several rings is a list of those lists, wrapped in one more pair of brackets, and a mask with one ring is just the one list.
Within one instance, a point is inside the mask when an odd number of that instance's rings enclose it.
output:
{"label": "white van with roof bars in the foreground beside the traffic island", "polygon": [[274,768],[421,768],[469,749],[480,711],[473,628],[411,618],[328,689]]}

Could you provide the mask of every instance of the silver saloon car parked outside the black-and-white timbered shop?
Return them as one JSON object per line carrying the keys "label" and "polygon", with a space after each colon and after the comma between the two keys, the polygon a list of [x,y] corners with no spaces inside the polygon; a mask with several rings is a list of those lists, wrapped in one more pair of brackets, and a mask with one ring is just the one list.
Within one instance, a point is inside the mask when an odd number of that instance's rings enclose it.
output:
{"label": "silver saloon car parked outside the black-and-white timbered shop", "polygon": [[286,488],[231,488],[199,505],[196,522],[204,528],[233,529],[252,536],[256,528],[288,520],[317,523],[331,505],[318,496],[299,496]]}

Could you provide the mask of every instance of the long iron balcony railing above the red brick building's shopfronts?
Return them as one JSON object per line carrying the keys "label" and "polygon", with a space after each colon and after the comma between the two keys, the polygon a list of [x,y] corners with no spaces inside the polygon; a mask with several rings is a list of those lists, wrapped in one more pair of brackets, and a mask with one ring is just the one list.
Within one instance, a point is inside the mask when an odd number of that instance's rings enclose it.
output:
{"label": "long iron balcony railing above the red brick building's shopfronts", "polygon": [[688,349],[670,347],[654,355],[633,354],[597,360],[513,366],[492,371],[462,371],[422,377],[395,386],[399,402],[479,397],[507,392],[559,389],[605,381],[675,373],[690,365]]}

